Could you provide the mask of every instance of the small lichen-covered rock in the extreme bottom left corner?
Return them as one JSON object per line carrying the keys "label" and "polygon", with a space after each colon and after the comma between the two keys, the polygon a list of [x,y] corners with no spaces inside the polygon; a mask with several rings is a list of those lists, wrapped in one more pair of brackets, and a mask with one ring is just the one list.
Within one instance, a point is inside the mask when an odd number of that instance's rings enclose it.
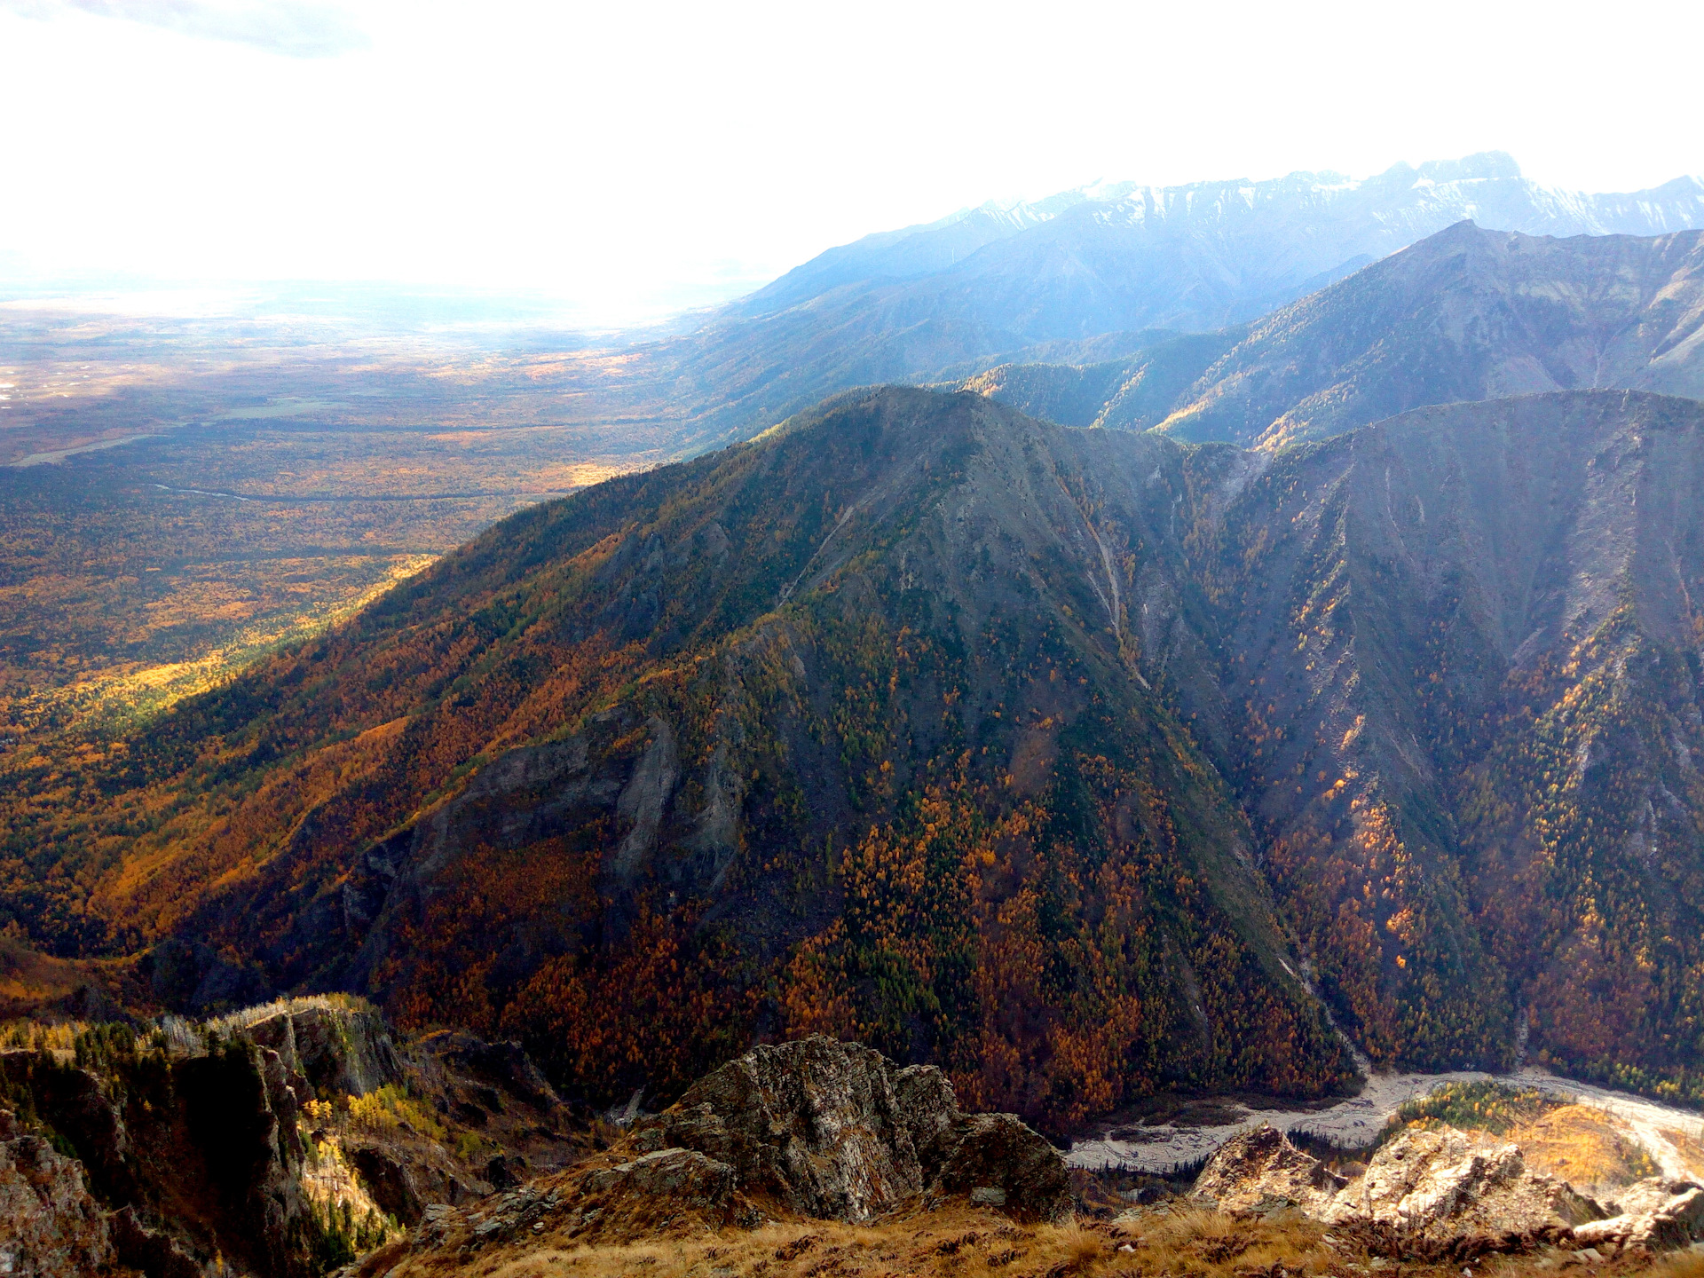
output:
{"label": "small lichen-covered rock in the extreme bottom left corner", "polygon": [[0,1273],[60,1278],[112,1261],[106,1213],[83,1167],[0,1109]]}

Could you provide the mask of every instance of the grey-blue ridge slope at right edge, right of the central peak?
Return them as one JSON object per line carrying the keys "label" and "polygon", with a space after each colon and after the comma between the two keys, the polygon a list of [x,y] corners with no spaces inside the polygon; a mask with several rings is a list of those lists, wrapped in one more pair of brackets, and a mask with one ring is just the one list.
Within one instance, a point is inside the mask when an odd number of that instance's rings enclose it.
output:
{"label": "grey-blue ridge slope at right edge, right of the central peak", "polygon": [[1506,1062],[1513,999],[1568,1068],[1704,1096],[1701,463],[1704,407],[1609,392],[1251,462],[1203,559],[1223,740],[1375,1058]]}

